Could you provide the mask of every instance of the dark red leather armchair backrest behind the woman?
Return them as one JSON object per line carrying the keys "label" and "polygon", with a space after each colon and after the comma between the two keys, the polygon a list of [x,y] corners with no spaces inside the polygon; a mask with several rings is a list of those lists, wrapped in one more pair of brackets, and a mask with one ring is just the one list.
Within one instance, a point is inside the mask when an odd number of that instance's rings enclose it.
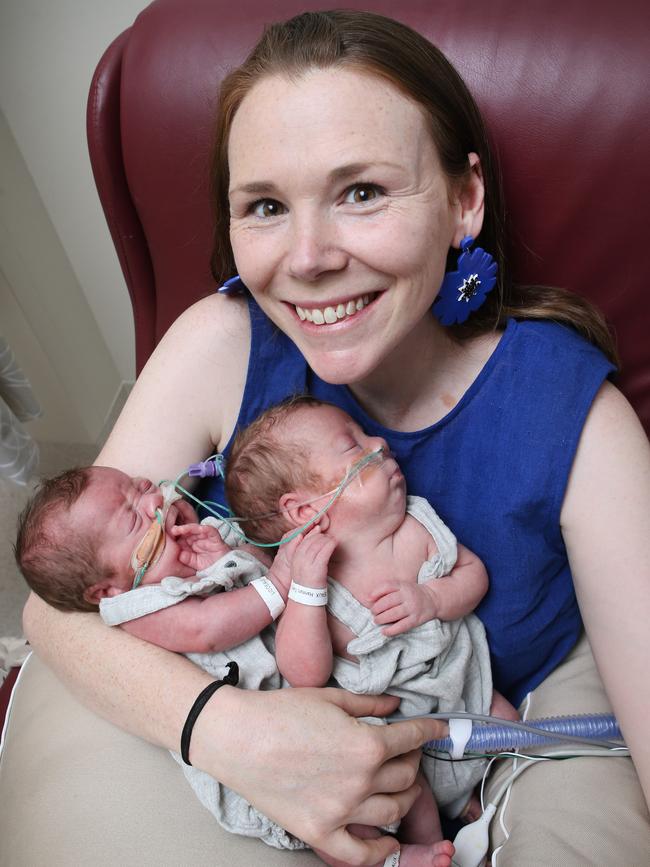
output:
{"label": "dark red leather armchair backrest behind the woman", "polygon": [[[587,296],[650,430],[650,38],[643,0],[348,2],[439,45],[488,121],[515,277]],[[318,0],[156,0],[108,48],[88,102],[99,194],[131,294],[137,365],[214,290],[207,191],[216,92],[265,22]]]}

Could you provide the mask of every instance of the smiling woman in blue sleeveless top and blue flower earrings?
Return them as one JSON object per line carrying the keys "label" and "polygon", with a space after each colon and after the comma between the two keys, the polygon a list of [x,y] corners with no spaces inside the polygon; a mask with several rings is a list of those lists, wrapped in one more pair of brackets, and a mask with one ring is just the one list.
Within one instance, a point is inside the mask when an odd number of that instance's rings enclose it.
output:
{"label": "smiling woman in blue sleeveless top and blue flower earrings", "polygon": [[[602,325],[585,305],[509,285],[494,171],[462,82],[428,43],[376,16],[307,15],[271,29],[224,87],[215,198],[218,276],[237,269],[256,303],[213,297],[178,320],[100,462],[167,477],[214,445],[227,449],[238,421],[296,385],[334,399],[387,437],[414,493],[428,495],[437,508],[446,498],[443,516],[488,565],[491,590],[479,615],[497,686],[508,697],[520,701],[534,690],[526,701],[549,702],[551,713],[605,705],[588,647],[579,641],[577,595],[648,797],[647,441],[607,383],[611,365],[604,356],[557,325],[508,320],[559,319],[607,348]],[[466,324],[450,330],[430,308],[445,270],[454,268],[450,251],[467,236],[497,259],[498,284]],[[552,391],[557,359],[564,372],[562,364],[570,365],[575,387],[563,396]],[[215,387],[206,397],[209,378]],[[426,473],[415,457],[405,458],[409,449],[424,454]],[[26,618],[39,653],[87,703],[177,747],[188,709],[209,680],[201,672],[127,636],[106,634],[94,619],[62,618],[34,600]],[[612,628],[617,622],[625,629]],[[56,659],[54,637],[66,648]],[[580,666],[588,688],[577,707],[575,692],[567,699],[562,690]],[[136,694],[138,701],[130,701]],[[563,701],[567,707],[559,707]],[[347,862],[377,863],[394,844],[358,841],[345,825],[403,814],[416,794],[413,750],[439,731],[423,722],[369,731],[342,712],[388,707],[385,699],[337,692],[242,695],[224,687],[198,718],[190,757],[312,845]],[[260,726],[261,746],[254,737]],[[215,746],[220,740],[228,743],[225,754]],[[556,852],[542,834],[538,860],[570,863],[566,839],[589,813],[584,799],[606,773],[613,799],[633,805],[637,833],[618,843],[615,829],[599,837],[589,828],[591,849],[582,848],[575,863],[599,863],[603,840],[619,856],[624,852],[620,860],[635,863],[647,817],[629,763],[611,761],[603,770],[592,760],[586,767],[572,764],[571,787],[552,777],[525,799],[513,796],[513,802],[539,800],[534,821],[543,830],[549,791],[555,804],[568,795],[579,805],[556,836]],[[539,779],[535,769],[522,784],[533,775]],[[335,806],[331,792],[340,799]],[[508,826],[499,863],[531,863],[530,816],[512,818],[517,830]]]}

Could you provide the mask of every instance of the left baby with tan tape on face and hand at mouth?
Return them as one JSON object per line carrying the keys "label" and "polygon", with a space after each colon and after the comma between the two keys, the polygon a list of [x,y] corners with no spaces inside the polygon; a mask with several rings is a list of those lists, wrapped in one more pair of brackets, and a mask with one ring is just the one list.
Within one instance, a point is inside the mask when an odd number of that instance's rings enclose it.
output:
{"label": "left baby with tan tape on face and hand at mouth", "polygon": [[[161,582],[174,587],[199,573],[204,586],[194,592],[202,595],[186,593],[180,608],[156,610],[150,601],[156,613],[124,620],[124,629],[182,653],[226,650],[258,635],[272,622],[273,612],[284,608],[289,580],[284,557],[267,570],[259,562],[264,554],[233,552],[214,519],[198,524],[196,512],[182,499],[169,505],[164,525],[158,525],[163,505],[160,488],[147,479],[111,467],[68,470],[44,481],[21,515],[16,560],[32,590],[50,605],[97,611],[102,600],[128,595],[141,568],[138,552],[149,548],[152,557],[142,587]],[[156,525],[161,540],[156,545],[154,539],[152,546]],[[221,577],[211,584],[205,576],[215,565]],[[284,583],[278,577],[281,565]],[[247,586],[230,594],[204,595],[241,585],[244,579]]]}

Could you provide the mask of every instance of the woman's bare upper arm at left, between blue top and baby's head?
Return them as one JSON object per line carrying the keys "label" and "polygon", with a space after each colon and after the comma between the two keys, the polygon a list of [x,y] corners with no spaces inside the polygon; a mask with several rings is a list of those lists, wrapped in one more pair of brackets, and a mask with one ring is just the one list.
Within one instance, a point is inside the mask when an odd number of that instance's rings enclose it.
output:
{"label": "woman's bare upper arm at left, between blue top and baby's head", "polygon": [[96,463],[158,482],[222,449],[237,422],[249,346],[245,302],[214,295],[186,310],[138,377]]}

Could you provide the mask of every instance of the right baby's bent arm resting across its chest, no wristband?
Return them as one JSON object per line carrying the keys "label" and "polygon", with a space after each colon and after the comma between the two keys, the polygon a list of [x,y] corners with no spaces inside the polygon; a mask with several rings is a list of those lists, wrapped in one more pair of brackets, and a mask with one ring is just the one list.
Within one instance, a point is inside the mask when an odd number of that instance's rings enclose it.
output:
{"label": "right baby's bent arm resting across its chest, no wristband", "polygon": [[424,584],[388,579],[378,583],[370,601],[375,623],[385,635],[399,635],[428,620],[458,620],[476,608],[488,588],[482,561],[464,545],[448,575]]}

